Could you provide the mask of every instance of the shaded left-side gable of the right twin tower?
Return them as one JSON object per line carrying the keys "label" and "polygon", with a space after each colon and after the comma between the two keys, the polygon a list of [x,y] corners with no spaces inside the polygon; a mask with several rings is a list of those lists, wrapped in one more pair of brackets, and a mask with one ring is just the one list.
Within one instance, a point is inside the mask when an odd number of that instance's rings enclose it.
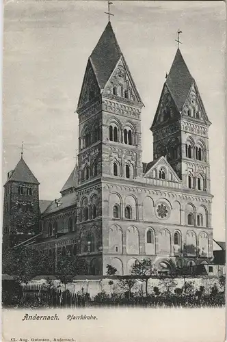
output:
{"label": "shaded left-side gable of the right twin tower", "polygon": [[170,90],[165,83],[161,92],[159,104],[155,113],[155,118],[152,122],[152,127],[154,127],[156,124],[168,122],[173,118],[180,118],[180,113],[176,107],[176,104],[174,103],[172,94],[170,93]]}

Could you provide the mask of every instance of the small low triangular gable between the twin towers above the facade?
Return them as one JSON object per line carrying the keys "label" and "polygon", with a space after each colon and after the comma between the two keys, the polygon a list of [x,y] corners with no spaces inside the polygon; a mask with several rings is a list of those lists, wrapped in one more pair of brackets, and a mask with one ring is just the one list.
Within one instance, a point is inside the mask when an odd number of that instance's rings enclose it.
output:
{"label": "small low triangular gable between the twin towers above the facade", "polygon": [[144,176],[146,178],[160,179],[159,172],[162,171],[165,172],[165,180],[176,183],[181,182],[178,175],[176,174],[172,166],[170,166],[170,163],[168,163],[165,157],[160,157],[159,159],[157,159],[156,162],[152,162],[150,169],[148,170],[147,168],[146,174],[144,174]]}

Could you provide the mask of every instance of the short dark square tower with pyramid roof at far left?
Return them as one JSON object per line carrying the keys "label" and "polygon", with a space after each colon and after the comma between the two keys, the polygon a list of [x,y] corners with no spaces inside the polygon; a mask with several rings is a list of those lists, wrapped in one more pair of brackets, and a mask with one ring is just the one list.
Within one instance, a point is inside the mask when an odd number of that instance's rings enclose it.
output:
{"label": "short dark square tower with pyramid roof at far left", "polygon": [[38,234],[39,182],[23,159],[8,172],[4,185],[3,249]]}

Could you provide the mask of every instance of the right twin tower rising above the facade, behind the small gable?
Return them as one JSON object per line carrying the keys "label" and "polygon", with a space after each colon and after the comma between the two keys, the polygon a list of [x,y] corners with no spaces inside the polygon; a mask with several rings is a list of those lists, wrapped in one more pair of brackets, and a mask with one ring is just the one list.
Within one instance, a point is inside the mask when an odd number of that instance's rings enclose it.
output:
{"label": "right twin tower rising above the facade, behind the small gable", "polygon": [[165,156],[183,181],[183,188],[210,194],[206,115],[196,81],[176,51],[152,123],[154,159]]}

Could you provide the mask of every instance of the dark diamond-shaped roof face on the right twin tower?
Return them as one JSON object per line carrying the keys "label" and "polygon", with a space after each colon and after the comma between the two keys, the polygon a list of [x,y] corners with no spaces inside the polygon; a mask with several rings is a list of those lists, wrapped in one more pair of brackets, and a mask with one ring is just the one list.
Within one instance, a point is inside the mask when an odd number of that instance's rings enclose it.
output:
{"label": "dark diamond-shaped roof face on the right twin tower", "polygon": [[172,94],[178,111],[181,111],[193,83],[193,77],[187,68],[180,49],[176,51],[174,62],[165,83]]}

